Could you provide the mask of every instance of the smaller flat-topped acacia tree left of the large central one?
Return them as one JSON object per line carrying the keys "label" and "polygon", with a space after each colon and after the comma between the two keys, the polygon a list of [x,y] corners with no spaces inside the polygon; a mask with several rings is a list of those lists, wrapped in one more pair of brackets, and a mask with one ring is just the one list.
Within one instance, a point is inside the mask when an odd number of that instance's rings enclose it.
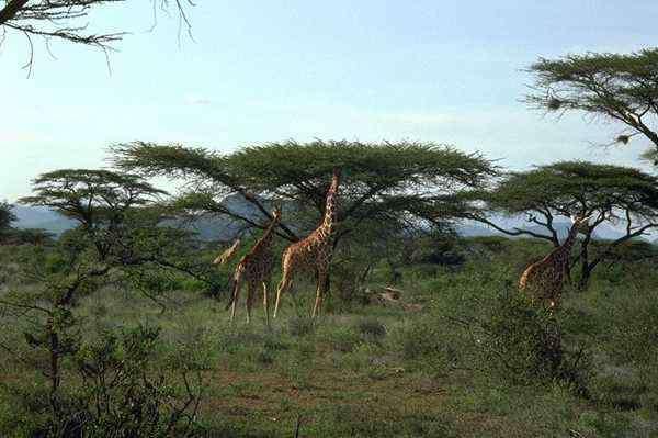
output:
{"label": "smaller flat-topped acacia tree left of the large central one", "polygon": [[136,175],[95,169],[56,170],[41,175],[33,184],[35,195],[20,202],[46,206],[76,221],[75,238],[94,246],[98,261],[107,269],[154,263],[218,292],[218,279],[208,263],[185,252],[190,233],[163,225],[170,217],[160,205],[166,191]]}

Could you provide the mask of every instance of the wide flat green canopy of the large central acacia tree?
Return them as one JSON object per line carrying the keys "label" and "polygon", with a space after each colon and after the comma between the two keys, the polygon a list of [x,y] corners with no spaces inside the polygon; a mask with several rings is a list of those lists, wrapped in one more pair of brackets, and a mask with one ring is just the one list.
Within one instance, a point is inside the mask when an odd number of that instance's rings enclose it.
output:
{"label": "wide flat green canopy of the large central acacia tree", "polygon": [[[481,188],[496,173],[477,154],[423,143],[360,142],[269,143],[222,155],[181,145],[136,142],[113,148],[114,164],[145,177],[168,176],[184,182],[178,205],[197,209],[264,228],[268,204],[288,206],[277,234],[291,242],[308,232],[324,214],[334,168],[343,175],[336,243],[364,221],[396,227],[440,227],[457,214],[452,194]],[[241,195],[259,218],[223,202]],[[291,221],[291,217],[294,222]]]}

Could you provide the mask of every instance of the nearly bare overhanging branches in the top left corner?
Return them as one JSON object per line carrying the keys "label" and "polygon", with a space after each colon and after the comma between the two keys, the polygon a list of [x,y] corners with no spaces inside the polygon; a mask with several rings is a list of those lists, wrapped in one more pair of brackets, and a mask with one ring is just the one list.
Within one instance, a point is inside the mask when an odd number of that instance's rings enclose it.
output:
{"label": "nearly bare overhanging branches in the top left corner", "polygon": [[[194,5],[192,0],[150,1],[154,18],[158,9],[162,11],[173,9],[179,16],[179,30],[184,27],[188,32],[191,31],[192,25],[186,9]],[[0,9],[0,46],[8,34],[23,35],[30,48],[30,57],[24,66],[29,71],[34,60],[33,38],[35,37],[44,38],[46,45],[50,40],[59,40],[99,48],[106,53],[112,49],[114,43],[126,35],[125,31],[93,33],[88,30],[87,22],[92,11],[114,4],[123,5],[126,0],[4,0],[3,3]],[[125,5],[125,9],[128,7]]]}

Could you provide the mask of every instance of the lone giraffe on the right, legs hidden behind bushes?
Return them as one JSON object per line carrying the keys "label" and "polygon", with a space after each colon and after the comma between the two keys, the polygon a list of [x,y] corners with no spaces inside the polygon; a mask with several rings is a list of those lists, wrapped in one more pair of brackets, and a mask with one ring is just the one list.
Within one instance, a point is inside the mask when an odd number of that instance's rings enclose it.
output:
{"label": "lone giraffe on the right, legs hidden behind bushes", "polygon": [[519,289],[529,292],[532,299],[547,301],[557,307],[561,297],[565,271],[571,248],[580,231],[588,226],[589,216],[577,216],[565,242],[542,260],[530,265],[519,280]]}

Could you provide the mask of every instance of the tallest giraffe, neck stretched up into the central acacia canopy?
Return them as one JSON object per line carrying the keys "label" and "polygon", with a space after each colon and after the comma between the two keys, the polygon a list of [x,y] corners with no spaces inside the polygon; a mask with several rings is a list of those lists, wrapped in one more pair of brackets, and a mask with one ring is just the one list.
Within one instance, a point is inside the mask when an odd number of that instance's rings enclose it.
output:
{"label": "tallest giraffe, neck stretched up into the central acacia canopy", "polygon": [[300,270],[314,269],[317,271],[316,301],[313,306],[311,316],[319,315],[325,288],[327,285],[327,276],[329,262],[333,255],[331,238],[336,231],[336,209],[338,198],[338,186],[340,182],[340,170],[333,170],[331,186],[327,192],[325,215],[320,225],[306,238],[288,246],[283,252],[283,277],[276,288],[276,304],[274,305],[274,317],[279,311],[281,294],[287,291],[293,282],[294,276]]}

